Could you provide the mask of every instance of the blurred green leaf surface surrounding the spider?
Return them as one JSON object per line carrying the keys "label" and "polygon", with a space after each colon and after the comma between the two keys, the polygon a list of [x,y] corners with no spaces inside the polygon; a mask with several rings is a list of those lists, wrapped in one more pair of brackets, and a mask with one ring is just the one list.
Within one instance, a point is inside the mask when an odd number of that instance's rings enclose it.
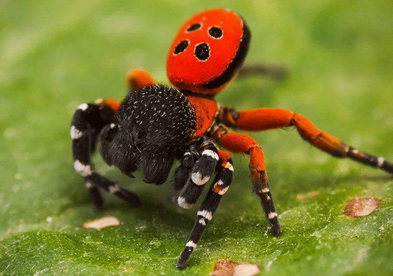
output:
{"label": "blurred green leaf surface surrounding the spider", "polygon": [[[197,207],[167,201],[99,156],[97,169],[140,195],[131,209],[105,195],[96,211],[74,172],[75,108],[121,99],[143,67],[168,83],[165,59],[194,13],[226,7],[252,31],[247,62],[280,64],[284,80],[242,78],[217,100],[291,109],[348,144],[393,160],[393,1],[0,0],[0,275],[208,275],[217,259],[257,263],[261,275],[393,275],[393,180],[312,149],[292,129],[254,133],[265,151],[283,234],[273,237],[252,194],[247,156],[183,271],[175,269]],[[319,192],[298,200],[298,194]],[[345,202],[382,199],[349,219]],[[120,226],[84,229],[106,215]]]}

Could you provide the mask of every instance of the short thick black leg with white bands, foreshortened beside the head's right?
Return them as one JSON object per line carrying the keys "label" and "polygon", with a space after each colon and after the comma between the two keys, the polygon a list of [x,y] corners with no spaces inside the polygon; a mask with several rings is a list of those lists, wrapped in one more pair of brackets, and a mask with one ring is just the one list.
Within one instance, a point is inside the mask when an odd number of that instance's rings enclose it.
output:
{"label": "short thick black leg with white bands, foreshortened beside the head's right", "polygon": [[217,148],[211,141],[206,141],[201,145],[202,152],[195,163],[188,178],[177,198],[177,204],[182,208],[191,208],[203,191],[205,183],[210,179],[219,160]]}

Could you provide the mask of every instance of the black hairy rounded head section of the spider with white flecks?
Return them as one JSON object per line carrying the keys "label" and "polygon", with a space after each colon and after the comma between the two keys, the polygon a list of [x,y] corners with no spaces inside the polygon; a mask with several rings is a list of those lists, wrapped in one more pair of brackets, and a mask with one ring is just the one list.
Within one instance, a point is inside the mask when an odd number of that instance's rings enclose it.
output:
{"label": "black hairy rounded head section of the spider with white flecks", "polygon": [[[175,88],[151,85],[129,94],[115,115],[116,126],[101,147],[108,164],[130,175],[139,170],[149,183],[163,183],[178,148],[197,127],[187,98]],[[114,130],[113,130],[114,129]],[[109,138],[109,139],[108,139]]]}

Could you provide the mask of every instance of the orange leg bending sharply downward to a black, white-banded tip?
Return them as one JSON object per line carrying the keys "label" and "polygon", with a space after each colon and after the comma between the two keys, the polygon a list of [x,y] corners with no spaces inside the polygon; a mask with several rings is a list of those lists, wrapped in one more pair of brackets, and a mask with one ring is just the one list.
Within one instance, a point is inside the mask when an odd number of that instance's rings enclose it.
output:
{"label": "orange leg bending sharply downward to a black, white-banded tip", "polygon": [[270,193],[270,185],[268,182],[265,157],[261,147],[256,141],[247,134],[227,132],[225,127],[219,128],[214,137],[228,151],[235,153],[247,153],[250,155],[249,167],[253,189],[260,197],[263,211],[272,233],[276,236],[281,234],[279,220],[277,218],[276,208],[273,203],[272,194]]}

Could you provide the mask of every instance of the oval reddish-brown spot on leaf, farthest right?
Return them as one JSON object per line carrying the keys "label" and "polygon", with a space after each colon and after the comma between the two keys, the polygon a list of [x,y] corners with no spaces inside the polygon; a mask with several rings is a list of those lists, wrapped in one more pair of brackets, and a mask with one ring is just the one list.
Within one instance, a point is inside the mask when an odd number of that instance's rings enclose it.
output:
{"label": "oval reddish-brown spot on leaf, farthest right", "polygon": [[370,197],[353,198],[347,202],[343,214],[350,218],[359,218],[371,214],[381,200]]}

